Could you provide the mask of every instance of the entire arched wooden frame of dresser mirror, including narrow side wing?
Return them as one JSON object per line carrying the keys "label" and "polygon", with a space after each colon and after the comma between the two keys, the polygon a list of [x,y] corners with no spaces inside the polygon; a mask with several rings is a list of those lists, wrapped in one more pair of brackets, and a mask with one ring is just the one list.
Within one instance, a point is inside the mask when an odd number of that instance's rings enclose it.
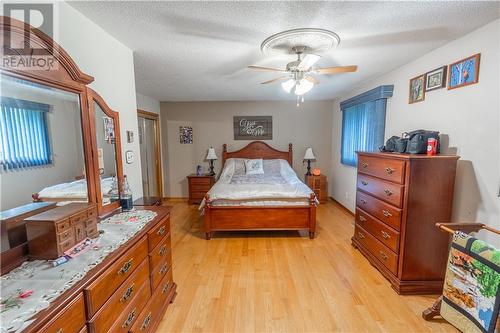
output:
{"label": "entire arched wooden frame of dresser mirror, including narrow side wing", "polygon": [[[98,161],[94,159],[94,156],[97,156],[95,128],[94,132],[92,132],[92,128],[94,127],[94,113],[91,111],[93,110],[93,105],[90,106],[89,101],[91,98],[95,98],[102,109],[107,114],[109,111],[108,115],[114,119],[117,176],[121,177],[123,165],[118,113],[112,111],[102,97],[87,87],[88,84],[94,81],[94,78],[82,72],[69,54],[44,32],[22,21],[7,16],[0,16],[0,34],[4,36],[2,46],[4,56],[53,56],[57,66],[53,70],[19,69],[9,67],[8,64],[2,61],[0,62],[0,72],[2,74],[78,94],[82,119],[88,202],[98,204],[99,215],[110,212],[111,207],[109,209],[103,208],[100,198],[99,170],[97,169],[96,171],[95,169],[95,166],[98,166]],[[25,48],[26,45],[35,45],[36,48]],[[19,46],[19,49],[13,49],[11,46]],[[111,205],[106,205],[105,207],[107,206]],[[113,205],[112,207],[117,208],[118,206]]]}

